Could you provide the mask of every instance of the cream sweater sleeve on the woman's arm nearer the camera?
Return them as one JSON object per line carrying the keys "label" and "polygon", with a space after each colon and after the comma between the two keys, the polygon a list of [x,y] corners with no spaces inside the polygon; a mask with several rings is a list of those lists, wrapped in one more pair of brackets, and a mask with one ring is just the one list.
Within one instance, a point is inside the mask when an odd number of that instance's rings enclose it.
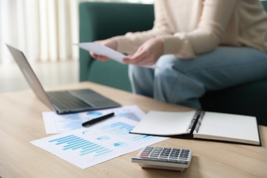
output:
{"label": "cream sweater sleeve on the woman's arm nearer the camera", "polygon": [[235,5],[236,0],[205,0],[196,29],[162,36],[164,53],[181,58],[194,58],[197,54],[218,47]]}

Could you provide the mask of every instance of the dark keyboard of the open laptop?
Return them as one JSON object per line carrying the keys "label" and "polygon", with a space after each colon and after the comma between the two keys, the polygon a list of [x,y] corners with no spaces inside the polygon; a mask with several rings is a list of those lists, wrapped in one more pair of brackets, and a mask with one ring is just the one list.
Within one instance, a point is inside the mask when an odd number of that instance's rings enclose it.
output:
{"label": "dark keyboard of the open laptop", "polygon": [[75,109],[88,107],[88,103],[81,101],[77,97],[73,96],[68,91],[58,91],[58,92],[47,92],[51,102],[59,107],[61,110]]}

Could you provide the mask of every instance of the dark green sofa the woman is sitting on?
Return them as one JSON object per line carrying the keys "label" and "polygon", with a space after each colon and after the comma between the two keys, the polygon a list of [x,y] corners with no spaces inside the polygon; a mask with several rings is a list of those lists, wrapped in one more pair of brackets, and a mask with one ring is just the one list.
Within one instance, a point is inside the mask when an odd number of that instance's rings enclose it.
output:
{"label": "dark green sofa the woman is sitting on", "polygon": [[[263,3],[267,10],[267,1]],[[79,4],[79,40],[92,42],[127,31],[144,31],[151,29],[153,19],[151,4],[83,2]],[[79,51],[80,81],[131,91],[127,70],[125,64],[100,62],[87,51]],[[207,111],[256,116],[259,125],[267,125],[267,79],[207,92],[201,104]]]}

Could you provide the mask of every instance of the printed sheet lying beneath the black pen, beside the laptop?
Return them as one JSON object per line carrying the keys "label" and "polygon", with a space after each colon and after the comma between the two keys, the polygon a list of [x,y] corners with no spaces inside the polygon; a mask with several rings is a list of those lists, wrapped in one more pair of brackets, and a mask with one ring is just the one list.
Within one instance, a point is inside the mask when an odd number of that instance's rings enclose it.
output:
{"label": "printed sheet lying beneath the black pen, beside the laptop", "polygon": [[136,105],[117,107],[107,110],[80,112],[75,114],[58,115],[55,112],[42,112],[44,127],[47,134],[63,133],[75,129],[81,129],[81,123],[114,112],[116,116],[123,116],[129,119],[140,121],[144,112]]}

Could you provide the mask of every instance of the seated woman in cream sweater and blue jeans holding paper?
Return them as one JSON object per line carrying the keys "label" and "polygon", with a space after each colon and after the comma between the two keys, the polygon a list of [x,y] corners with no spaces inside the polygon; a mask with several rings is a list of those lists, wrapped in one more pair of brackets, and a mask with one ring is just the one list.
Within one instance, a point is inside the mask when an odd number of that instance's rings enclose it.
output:
{"label": "seated woman in cream sweater and blue jeans holding paper", "polygon": [[260,1],[155,0],[154,8],[153,29],[98,41],[130,54],[124,62],[133,64],[133,92],[201,109],[206,91],[267,77],[267,15]]}

